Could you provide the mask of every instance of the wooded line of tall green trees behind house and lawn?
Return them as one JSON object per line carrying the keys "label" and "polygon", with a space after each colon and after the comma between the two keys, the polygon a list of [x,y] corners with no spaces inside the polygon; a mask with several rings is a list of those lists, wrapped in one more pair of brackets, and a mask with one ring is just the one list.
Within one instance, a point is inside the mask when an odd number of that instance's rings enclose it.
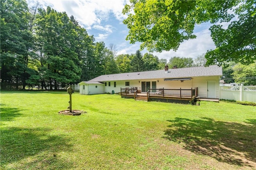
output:
{"label": "wooded line of tall green trees behind house and lawn", "polygon": [[1,3],[1,89],[60,85],[90,80],[102,74],[163,69],[165,59],[150,53],[116,56],[116,46],[95,42],[74,16],[46,10],[25,0]]}

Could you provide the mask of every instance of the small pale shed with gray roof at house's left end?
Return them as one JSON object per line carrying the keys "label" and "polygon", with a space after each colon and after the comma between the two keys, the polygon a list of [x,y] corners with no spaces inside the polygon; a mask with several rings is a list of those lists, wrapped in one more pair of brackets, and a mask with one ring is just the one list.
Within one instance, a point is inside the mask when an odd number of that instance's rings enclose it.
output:
{"label": "small pale shed with gray roof at house's left end", "polygon": [[78,84],[80,94],[104,94],[104,84],[101,82],[82,81]]}

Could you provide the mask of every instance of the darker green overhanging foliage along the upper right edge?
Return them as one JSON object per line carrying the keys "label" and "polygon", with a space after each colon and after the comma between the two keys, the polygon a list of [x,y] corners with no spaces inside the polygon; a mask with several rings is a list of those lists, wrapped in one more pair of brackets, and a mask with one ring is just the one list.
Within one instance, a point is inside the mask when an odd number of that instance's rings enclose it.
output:
{"label": "darker green overhanging foliage along the upper right edge", "polygon": [[216,49],[206,53],[207,65],[225,61],[249,64],[256,60],[256,1],[243,1],[234,12],[238,20],[227,29],[221,24],[210,28]]}

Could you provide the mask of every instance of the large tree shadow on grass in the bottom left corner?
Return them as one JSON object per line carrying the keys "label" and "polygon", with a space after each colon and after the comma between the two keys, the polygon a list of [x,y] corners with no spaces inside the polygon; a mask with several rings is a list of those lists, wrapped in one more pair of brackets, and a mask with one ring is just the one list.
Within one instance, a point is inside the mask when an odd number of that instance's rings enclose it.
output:
{"label": "large tree shadow on grass in the bottom left corner", "polygon": [[1,128],[1,167],[72,169],[74,162],[61,158],[63,151],[72,148],[68,138],[50,132],[48,128]]}

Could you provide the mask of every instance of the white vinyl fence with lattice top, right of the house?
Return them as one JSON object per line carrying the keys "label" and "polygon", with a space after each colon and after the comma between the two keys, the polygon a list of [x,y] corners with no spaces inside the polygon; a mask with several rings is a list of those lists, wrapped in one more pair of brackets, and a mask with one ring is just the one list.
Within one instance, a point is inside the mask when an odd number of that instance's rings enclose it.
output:
{"label": "white vinyl fence with lattice top, right of the house", "polygon": [[220,99],[256,102],[256,86],[220,86]]}

